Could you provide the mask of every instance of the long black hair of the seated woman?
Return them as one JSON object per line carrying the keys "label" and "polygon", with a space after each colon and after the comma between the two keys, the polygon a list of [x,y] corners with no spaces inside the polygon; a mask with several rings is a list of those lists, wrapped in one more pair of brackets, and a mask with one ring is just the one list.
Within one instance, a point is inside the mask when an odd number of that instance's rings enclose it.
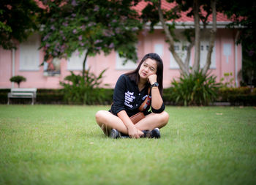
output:
{"label": "long black hair of the seated woman", "polygon": [[[159,55],[157,55],[157,53],[148,53],[146,54],[146,56],[144,56],[142,58],[142,60],[140,61],[140,64],[138,65],[138,67],[132,71],[132,72],[127,72],[126,75],[129,76],[129,78],[131,78],[131,80],[134,80],[135,83],[138,85],[139,81],[140,81],[140,75],[139,75],[139,70],[140,70],[140,66],[141,64],[143,64],[143,61],[146,61],[146,59],[151,58],[154,61],[157,61],[157,82],[159,83],[159,92],[162,96],[162,76],[163,76],[163,71],[164,71],[164,65],[162,64],[162,59],[160,58]],[[150,86],[150,84],[146,84],[146,86]]]}

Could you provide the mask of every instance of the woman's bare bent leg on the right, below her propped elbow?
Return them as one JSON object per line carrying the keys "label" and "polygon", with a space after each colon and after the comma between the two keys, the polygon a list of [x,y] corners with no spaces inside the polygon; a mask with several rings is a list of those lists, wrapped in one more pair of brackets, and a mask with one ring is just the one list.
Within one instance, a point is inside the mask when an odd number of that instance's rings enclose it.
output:
{"label": "woman's bare bent leg on the right, below her propped elbow", "polygon": [[154,128],[165,127],[169,120],[169,114],[163,111],[162,113],[150,113],[140,120],[135,127],[140,130],[152,130]]}

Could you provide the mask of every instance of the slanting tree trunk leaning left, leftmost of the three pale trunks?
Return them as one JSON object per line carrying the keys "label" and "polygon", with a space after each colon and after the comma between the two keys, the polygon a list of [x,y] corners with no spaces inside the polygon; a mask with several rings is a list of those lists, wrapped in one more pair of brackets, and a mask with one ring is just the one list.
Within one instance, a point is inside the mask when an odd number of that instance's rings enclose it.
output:
{"label": "slanting tree trunk leaning left, leftmost of the three pale trunks", "polygon": [[170,31],[167,27],[167,25],[165,24],[165,19],[164,19],[164,16],[162,14],[162,10],[161,10],[161,0],[158,1],[158,4],[157,4],[157,8],[158,8],[158,14],[159,14],[159,20],[160,22],[162,23],[162,28],[164,29],[165,31],[165,35],[167,37],[167,40],[169,42],[169,45],[170,45],[170,52],[173,54],[173,58],[176,60],[176,62],[178,63],[178,66],[180,67],[181,69],[181,72],[184,73],[184,74],[189,74],[189,67],[186,67],[183,63],[183,61],[181,60],[181,58],[178,56],[178,53],[176,53],[176,51],[174,50],[174,40],[173,40],[173,37],[171,36],[170,34]]}

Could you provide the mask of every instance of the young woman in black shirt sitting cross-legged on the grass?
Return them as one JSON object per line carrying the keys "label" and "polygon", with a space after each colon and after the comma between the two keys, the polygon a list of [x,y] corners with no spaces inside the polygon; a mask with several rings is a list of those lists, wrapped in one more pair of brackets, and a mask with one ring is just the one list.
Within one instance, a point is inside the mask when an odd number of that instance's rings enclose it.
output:
{"label": "young woman in black shirt sitting cross-legged on the grass", "polygon": [[[110,110],[99,110],[95,116],[105,135],[113,138],[125,135],[132,138],[160,137],[159,128],[164,127],[169,119],[162,101],[162,76],[162,59],[156,53],[148,53],[137,69],[118,78]],[[132,124],[129,117],[139,112],[148,88],[151,111],[150,106],[146,107],[143,111],[146,117]]]}

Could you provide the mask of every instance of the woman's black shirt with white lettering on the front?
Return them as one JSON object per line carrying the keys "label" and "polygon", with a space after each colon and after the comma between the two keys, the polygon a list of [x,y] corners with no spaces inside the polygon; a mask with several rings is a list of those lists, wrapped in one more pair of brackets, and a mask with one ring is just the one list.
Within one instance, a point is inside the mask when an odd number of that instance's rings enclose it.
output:
{"label": "woman's black shirt with white lettering on the front", "polygon": [[[127,75],[121,75],[116,82],[113,94],[113,105],[110,111],[114,115],[117,115],[121,110],[125,110],[128,116],[133,116],[139,112],[138,108],[143,103],[146,95],[148,95],[148,86],[139,91],[135,81],[131,80]],[[144,111],[145,115],[151,113],[149,108],[150,106]],[[164,110],[164,103],[162,103],[162,106],[158,110],[151,107],[153,113],[162,113]]]}

